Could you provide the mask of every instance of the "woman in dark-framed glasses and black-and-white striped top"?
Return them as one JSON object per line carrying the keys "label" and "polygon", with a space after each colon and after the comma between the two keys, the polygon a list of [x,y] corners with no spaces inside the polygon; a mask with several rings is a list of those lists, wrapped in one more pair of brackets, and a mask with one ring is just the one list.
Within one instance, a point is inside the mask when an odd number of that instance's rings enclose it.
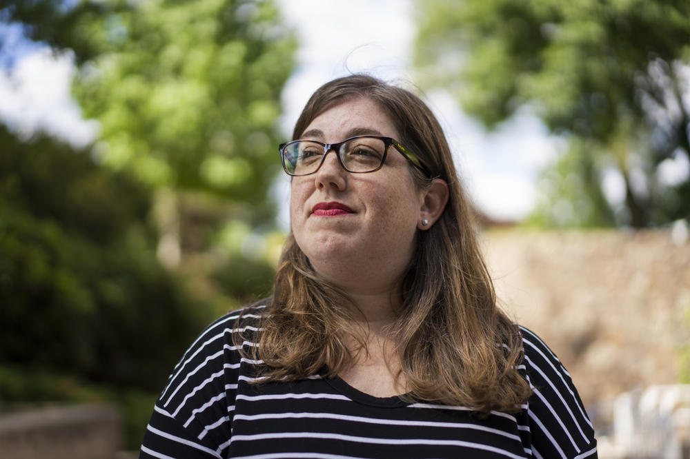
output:
{"label": "woman in dark-framed glasses and black-and-white striped top", "polygon": [[291,232],[273,296],[193,343],[141,458],[596,457],[568,373],[497,308],[420,99],[336,79],[280,152]]}

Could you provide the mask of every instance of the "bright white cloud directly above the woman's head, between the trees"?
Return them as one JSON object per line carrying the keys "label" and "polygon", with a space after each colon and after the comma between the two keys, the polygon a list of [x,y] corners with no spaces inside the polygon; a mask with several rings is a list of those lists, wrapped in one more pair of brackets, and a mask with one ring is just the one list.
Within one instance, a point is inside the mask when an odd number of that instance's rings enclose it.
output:
{"label": "bright white cloud directly above the woman's head, between the trees", "polygon": [[297,68],[283,90],[286,136],[312,92],[355,72],[382,79],[409,79],[415,26],[408,0],[278,0],[289,26],[297,30]]}

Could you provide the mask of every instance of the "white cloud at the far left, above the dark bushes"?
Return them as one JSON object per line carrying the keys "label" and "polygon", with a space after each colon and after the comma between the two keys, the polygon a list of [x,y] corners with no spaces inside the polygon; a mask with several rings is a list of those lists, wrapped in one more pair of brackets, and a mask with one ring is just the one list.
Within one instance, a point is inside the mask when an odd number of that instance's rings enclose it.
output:
{"label": "white cloud at the far left, above the dark bushes", "polygon": [[75,146],[87,145],[98,125],[82,119],[70,96],[73,75],[70,54],[55,57],[48,49],[26,54],[0,72],[0,119],[21,136],[43,130]]}

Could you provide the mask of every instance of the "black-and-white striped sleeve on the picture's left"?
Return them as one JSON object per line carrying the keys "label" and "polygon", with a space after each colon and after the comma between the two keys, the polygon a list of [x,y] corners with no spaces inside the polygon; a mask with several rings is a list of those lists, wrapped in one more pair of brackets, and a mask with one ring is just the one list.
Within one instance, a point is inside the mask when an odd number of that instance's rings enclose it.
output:
{"label": "black-and-white striped sleeve on the picture's left", "polygon": [[233,334],[255,329],[238,328],[239,315],[237,311],[216,320],[175,366],[155,403],[139,459],[225,457],[243,360]]}

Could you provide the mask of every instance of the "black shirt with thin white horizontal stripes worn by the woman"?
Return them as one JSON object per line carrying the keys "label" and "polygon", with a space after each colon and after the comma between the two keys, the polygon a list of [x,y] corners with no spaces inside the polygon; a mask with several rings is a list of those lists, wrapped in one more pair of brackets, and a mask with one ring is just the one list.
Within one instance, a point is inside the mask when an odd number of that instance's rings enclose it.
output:
{"label": "black shirt with thin white horizontal stripes worn by the woman", "polygon": [[[210,325],[157,400],[139,458],[596,458],[596,440],[571,377],[521,328],[533,387],[517,414],[364,394],[339,378],[250,384],[255,365],[233,344],[262,306]],[[246,334],[253,336],[253,334]],[[253,340],[242,346],[255,346]]]}

